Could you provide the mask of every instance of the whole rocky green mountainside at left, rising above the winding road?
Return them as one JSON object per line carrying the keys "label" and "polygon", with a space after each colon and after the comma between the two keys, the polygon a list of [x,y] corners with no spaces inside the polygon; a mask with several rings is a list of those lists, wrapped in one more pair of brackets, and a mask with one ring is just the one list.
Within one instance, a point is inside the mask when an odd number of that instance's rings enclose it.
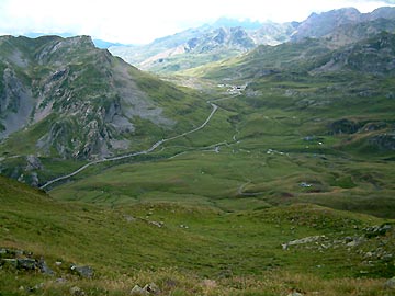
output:
{"label": "whole rocky green mountainside at left, rising above the winding road", "polygon": [[210,112],[198,93],[133,68],[88,36],[3,36],[0,53],[0,166],[15,179],[41,183],[54,158],[146,148]]}

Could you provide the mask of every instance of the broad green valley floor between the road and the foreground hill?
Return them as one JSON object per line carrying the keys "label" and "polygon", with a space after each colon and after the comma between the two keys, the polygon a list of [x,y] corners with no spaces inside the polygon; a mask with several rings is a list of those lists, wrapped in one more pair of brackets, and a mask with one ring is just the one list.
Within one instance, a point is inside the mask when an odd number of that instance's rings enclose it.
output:
{"label": "broad green valley floor between the road and the foreground hill", "polygon": [[394,153],[369,141],[391,128],[345,135],[330,129],[341,118],[391,125],[394,103],[385,93],[392,80],[350,86],[343,79],[262,78],[245,92],[257,95],[216,102],[221,110],[206,128],[166,143],[150,156],[156,161],[102,167],[52,195],[101,204],[170,198],[225,210],[308,202],[394,217],[395,171],[387,161]]}

